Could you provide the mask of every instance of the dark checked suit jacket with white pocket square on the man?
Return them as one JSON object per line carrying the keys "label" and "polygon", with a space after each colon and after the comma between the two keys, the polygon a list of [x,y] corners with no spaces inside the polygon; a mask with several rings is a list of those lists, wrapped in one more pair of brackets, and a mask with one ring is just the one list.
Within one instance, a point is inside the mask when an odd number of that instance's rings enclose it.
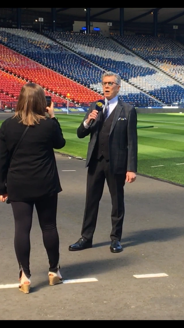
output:
{"label": "dark checked suit jacket with white pocket square on the man", "polygon": [[[90,112],[95,109],[93,102],[86,113],[83,122]],[[137,172],[138,136],[137,136],[137,113],[130,104],[118,100],[114,109],[115,115],[109,134],[109,162],[112,174],[125,174],[127,171]],[[90,134],[88,144],[86,167],[89,162],[97,141],[101,112],[91,127],[85,129],[83,122],[77,130],[78,138],[84,138]]]}

